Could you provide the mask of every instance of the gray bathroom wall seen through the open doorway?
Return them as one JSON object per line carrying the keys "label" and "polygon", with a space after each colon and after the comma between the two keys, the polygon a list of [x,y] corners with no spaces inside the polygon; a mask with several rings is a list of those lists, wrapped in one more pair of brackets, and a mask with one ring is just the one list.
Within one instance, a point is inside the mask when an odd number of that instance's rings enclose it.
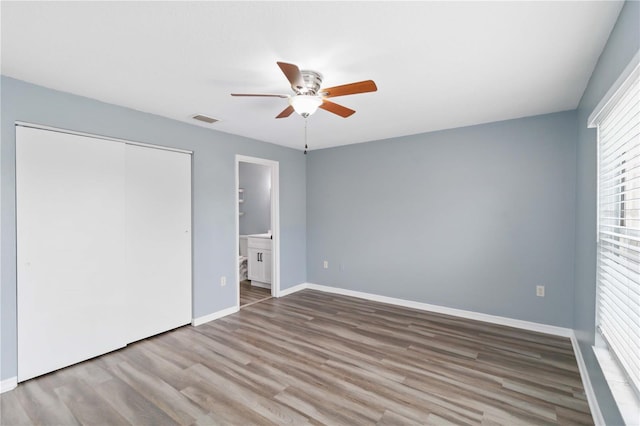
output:
{"label": "gray bathroom wall seen through the open doorway", "polygon": [[271,169],[261,164],[241,162],[238,181],[244,189],[240,204],[240,235],[263,234],[271,229]]}

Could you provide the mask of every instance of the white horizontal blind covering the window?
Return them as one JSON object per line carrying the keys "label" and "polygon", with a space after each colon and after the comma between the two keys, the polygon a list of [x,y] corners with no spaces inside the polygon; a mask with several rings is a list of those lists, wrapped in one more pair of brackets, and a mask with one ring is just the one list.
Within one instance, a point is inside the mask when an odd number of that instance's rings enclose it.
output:
{"label": "white horizontal blind covering the window", "polygon": [[598,118],[598,330],[640,390],[640,73]]}

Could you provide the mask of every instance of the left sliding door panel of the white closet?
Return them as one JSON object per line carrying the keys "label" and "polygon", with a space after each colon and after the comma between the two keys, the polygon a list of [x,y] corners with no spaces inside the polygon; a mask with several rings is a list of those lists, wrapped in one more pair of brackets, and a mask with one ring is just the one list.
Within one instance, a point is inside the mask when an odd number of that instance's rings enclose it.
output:
{"label": "left sliding door panel of the white closet", "polygon": [[19,381],[126,344],[124,154],[16,127]]}

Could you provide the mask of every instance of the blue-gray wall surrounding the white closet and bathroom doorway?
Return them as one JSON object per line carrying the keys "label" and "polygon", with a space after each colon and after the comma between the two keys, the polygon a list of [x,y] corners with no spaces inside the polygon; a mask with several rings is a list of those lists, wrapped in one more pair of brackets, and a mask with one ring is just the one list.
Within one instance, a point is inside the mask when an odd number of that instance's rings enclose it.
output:
{"label": "blue-gray wall surrounding the white closet and bathroom doorway", "polygon": [[193,154],[193,315],[235,305],[220,277],[237,273],[235,155],[280,163],[281,288],[306,280],[306,159],[300,151],[49,90],[3,76],[1,117],[2,239],[0,379],[16,376],[15,127],[28,121],[188,149]]}

